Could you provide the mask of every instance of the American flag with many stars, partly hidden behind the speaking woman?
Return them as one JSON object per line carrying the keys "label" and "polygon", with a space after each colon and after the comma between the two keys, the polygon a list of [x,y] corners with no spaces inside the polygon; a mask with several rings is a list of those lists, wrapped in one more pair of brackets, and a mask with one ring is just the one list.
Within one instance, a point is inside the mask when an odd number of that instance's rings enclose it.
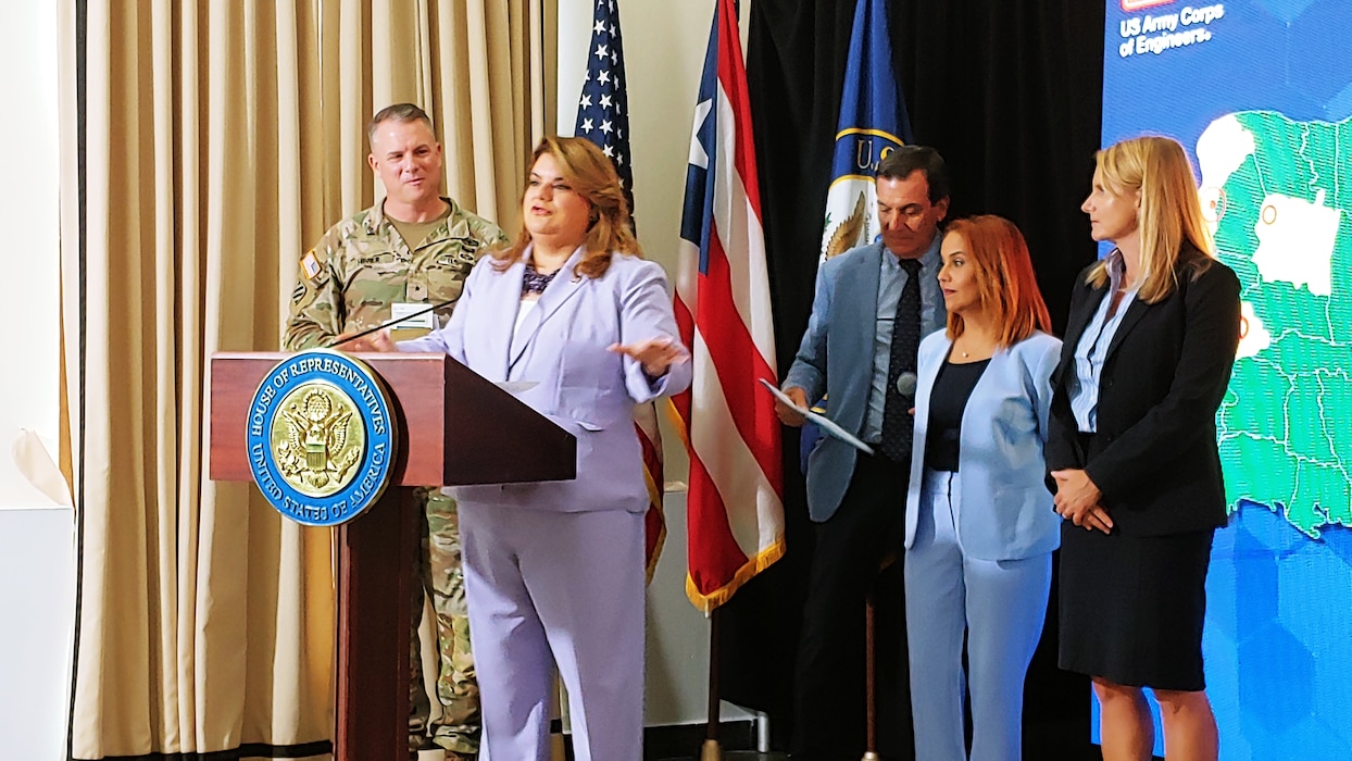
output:
{"label": "American flag with many stars, partly hidden behind the speaking woman", "polygon": [[[615,0],[596,0],[592,18],[591,47],[587,53],[587,78],[577,99],[577,124],[573,135],[596,143],[615,164],[630,214],[634,210],[634,170],[629,153],[629,96],[625,93],[625,47],[619,38],[619,8]],[[667,518],[662,514],[662,438],[657,430],[657,408],[639,404],[634,408],[634,433],[644,449],[644,481],[648,484],[645,549],[648,580],[653,580],[657,558],[667,541]]]}

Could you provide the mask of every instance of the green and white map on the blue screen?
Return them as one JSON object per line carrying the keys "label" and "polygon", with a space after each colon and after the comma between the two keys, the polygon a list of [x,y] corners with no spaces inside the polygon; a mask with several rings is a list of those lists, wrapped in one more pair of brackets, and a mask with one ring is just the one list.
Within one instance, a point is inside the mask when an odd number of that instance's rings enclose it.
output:
{"label": "green and white map on the blue screen", "polygon": [[1352,526],[1352,123],[1230,114],[1197,157],[1244,310],[1217,415],[1230,511],[1264,504],[1311,538]]}

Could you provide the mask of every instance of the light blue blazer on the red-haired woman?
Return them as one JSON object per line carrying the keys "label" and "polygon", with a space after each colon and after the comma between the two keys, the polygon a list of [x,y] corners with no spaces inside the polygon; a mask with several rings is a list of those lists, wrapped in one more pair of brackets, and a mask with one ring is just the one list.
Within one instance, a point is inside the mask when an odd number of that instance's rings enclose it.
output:
{"label": "light blue blazer on the red-haired woman", "polygon": [[[930,393],[952,346],[945,331],[921,342],[913,477],[906,495],[907,549],[915,542],[919,520]],[[956,477],[963,495],[957,543],[968,557],[1021,560],[1060,546],[1061,516],[1052,508],[1042,458],[1052,370],[1060,358],[1060,339],[1034,333],[996,350],[967,400]]]}

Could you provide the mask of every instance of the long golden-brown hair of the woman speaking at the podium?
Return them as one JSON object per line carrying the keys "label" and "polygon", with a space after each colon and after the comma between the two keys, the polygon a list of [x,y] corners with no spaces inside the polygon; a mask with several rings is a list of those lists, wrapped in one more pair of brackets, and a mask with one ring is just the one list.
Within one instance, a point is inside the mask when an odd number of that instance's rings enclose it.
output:
{"label": "long golden-brown hair of the woman speaking at the podium", "polygon": [[[611,251],[642,257],[644,250],[639,247],[638,239],[634,238],[630,226],[629,201],[619,184],[619,174],[615,173],[610,157],[585,138],[546,137],[539,141],[535,153],[530,157],[530,165],[526,168],[522,201],[525,203],[526,191],[530,188],[530,173],[539,157],[546,153],[558,162],[564,181],[591,208],[591,223],[587,227],[587,238],[583,239],[587,253],[576,270],[587,277],[606,274],[606,269],[610,268]],[[492,253],[493,266],[507,269],[522,258],[527,245],[530,245],[530,231],[526,230],[523,219],[511,247]]]}

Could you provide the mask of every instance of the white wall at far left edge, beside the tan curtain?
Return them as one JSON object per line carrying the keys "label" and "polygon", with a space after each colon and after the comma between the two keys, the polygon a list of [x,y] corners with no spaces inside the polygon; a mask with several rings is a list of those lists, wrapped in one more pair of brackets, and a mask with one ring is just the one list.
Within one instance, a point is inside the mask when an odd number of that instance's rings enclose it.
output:
{"label": "white wall at far left edge, beside the tan curtain", "polygon": [[[19,474],[20,428],[53,454],[58,424],[57,3],[5,3],[0,74],[7,146],[0,210],[5,365],[0,369],[0,758],[65,758],[74,616],[73,511]],[[22,115],[20,115],[22,114]],[[74,192],[74,189],[72,189]]]}

